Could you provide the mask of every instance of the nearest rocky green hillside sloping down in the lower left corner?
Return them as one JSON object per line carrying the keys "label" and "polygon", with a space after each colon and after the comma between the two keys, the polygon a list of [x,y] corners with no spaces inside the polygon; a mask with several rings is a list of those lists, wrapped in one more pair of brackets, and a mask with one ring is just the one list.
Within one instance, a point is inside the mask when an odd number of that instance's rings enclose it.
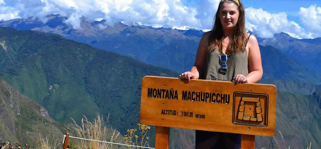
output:
{"label": "nearest rocky green hillside sloping down in the lower left corner", "polygon": [[42,136],[62,137],[63,125],[48,116],[48,111],[20,94],[0,78],[0,138],[1,141],[16,141],[23,146],[36,147],[36,133]]}

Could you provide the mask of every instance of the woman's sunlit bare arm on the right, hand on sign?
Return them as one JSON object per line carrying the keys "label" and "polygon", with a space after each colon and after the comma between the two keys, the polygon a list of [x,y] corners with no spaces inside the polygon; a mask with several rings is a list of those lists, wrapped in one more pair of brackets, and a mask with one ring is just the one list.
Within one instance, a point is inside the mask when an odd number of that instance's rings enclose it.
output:
{"label": "woman's sunlit bare arm on the right, hand on sign", "polygon": [[251,36],[249,38],[247,46],[249,74],[245,77],[243,75],[237,75],[234,78],[235,83],[256,83],[262,78],[263,75],[260,48],[255,36]]}

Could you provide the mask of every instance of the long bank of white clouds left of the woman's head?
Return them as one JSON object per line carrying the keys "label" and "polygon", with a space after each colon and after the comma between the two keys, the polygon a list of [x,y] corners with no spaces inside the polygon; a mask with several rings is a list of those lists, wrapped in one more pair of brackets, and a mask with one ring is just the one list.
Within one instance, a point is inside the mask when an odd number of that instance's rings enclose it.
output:
{"label": "long bank of white clouds left of the woman's head", "polygon": [[[10,2],[15,10],[19,10],[16,17],[35,16],[45,22],[46,15],[60,14],[68,17],[65,22],[72,24],[74,28],[80,27],[78,18],[82,16],[87,17],[89,21],[103,18],[110,24],[124,21],[126,24],[143,22],[150,26],[161,25],[166,28],[187,26],[203,29],[207,26],[200,21],[201,18],[196,17],[196,8],[187,7],[180,0],[15,0]],[[207,3],[214,4],[210,1]],[[8,13],[12,12],[14,11]],[[7,16],[2,16],[0,19],[7,19]]]}

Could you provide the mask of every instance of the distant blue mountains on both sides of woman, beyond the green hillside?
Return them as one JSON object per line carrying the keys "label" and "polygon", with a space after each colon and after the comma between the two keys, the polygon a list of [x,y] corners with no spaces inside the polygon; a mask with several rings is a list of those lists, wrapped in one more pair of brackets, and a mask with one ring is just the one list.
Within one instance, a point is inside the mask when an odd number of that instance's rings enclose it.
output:
{"label": "distant blue mountains on both sides of woman, beyond the green hillside", "polygon": [[[36,30],[59,34],[67,39],[90,44],[93,47],[133,57],[141,62],[185,72],[194,64],[196,49],[203,31],[153,28],[139,24],[126,25],[121,22],[107,25],[105,20],[89,22],[80,18],[80,29],[64,23],[60,15],[48,15],[43,23],[38,18],[15,19],[0,23],[2,27],[18,30]],[[296,39],[285,33],[274,38],[257,37],[261,49],[262,79],[294,80],[321,84],[318,47],[320,39]],[[269,47],[270,46],[270,47]],[[273,48],[271,47],[273,46]],[[308,50],[310,49],[310,50]],[[321,55],[320,55],[321,56]],[[310,59],[307,60],[306,58]],[[272,61],[273,60],[273,61]],[[285,74],[284,72],[290,72]],[[299,75],[296,77],[295,75]]]}

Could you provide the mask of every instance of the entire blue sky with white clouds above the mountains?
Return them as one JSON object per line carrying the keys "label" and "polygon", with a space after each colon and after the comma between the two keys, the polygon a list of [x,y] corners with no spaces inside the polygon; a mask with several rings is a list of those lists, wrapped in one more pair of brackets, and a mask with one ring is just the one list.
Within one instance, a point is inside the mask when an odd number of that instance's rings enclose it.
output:
{"label": "entire blue sky with white clouds above the mountains", "polygon": [[[122,21],[153,27],[209,30],[220,0],[0,0],[0,20],[38,17],[48,14],[68,17],[75,29],[79,18]],[[243,0],[246,28],[258,37],[285,32],[296,38],[321,37],[321,1]]]}

